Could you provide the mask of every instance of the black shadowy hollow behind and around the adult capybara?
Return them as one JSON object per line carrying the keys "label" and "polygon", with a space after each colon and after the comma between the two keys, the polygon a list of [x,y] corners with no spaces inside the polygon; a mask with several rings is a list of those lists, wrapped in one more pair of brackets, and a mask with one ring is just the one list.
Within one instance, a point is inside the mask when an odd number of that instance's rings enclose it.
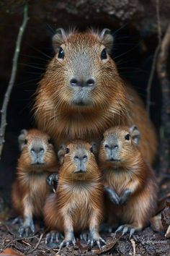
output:
{"label": "black shadowy hollow behind and around the adult capybara", "polygon": [[[55,33],[55,28],[67,29],[71,25],[75,25],[79,30],[85,30],[86,27],[101,29],[108,27],[111,29],[115,38],[112,58],[115,59],[122,77],[132,83],[143,101],[146,102],[148,77],[158,43],[157,30],[153,26],[156,23],[156,9],[155,7],[151,8],[153,1],[148,1],[148,5],[146,1],[136,1],[138,5],[135,7],[134,1],[126,1],[126,4],[129,4],[128,7],[123,6],[123,1],[120,1],[121,8],[124,10],[120,16],[118,16],[118,11],[113,12],[112,9],[107,9],[112,5],[115,10],[115,1],[110,1],[111,4],[109,3],[108,6],[108,1],[62,1],[62,4],[61,2],[57,4],[57,2],[59,1],[31,1],[29,7],[30,20],[24,32],[17,79],[9,101],[6,142],[0,162],[0,193],[8,200],[19,155],[17,136],[21,129],[35,126],[31,111],[35,90],[45,71],[46,64],[53,57],[51,37]],[[142,3],[143,9],[140,8]],[[23,1],[0,1],[0,7],[1,106],[11,74],[12,57],[19,25],[22,23]],[[126,11],[130,8],[131,14]],[[164,30],[166,12],[168,14],[170,12],[165,4],[162,4],[161,8],[163,8],[161,12],[164,14]],[[81,9],[81,13],[79,9]],[[151,119],[159,133],[161,88],[156,74],[153,78],[151,101]]]}

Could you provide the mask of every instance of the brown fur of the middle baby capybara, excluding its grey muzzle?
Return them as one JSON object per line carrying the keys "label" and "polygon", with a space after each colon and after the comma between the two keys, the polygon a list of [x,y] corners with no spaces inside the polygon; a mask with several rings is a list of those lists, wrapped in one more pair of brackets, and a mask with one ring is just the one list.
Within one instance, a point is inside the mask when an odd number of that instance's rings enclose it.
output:
{"label": "brown fur of the middle baby capybara, excluding its grey muzzle", "polygon": [[[65,233],[85,229],[99,229],[102,221],[101,174],[89,143],[74,141],[67,145],[70,153],[63,159],[59,170],[55,195],[48,197],[45,208],[45,224],[52,230]],[[73,153],[83,147],[88,155],[86,174],[74,174]]]}

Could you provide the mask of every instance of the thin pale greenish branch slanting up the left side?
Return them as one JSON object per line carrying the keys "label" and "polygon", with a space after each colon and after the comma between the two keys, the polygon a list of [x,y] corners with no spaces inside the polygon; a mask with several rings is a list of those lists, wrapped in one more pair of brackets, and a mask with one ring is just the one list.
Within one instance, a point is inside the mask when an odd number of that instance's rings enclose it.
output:
{"label": "thin pale greenish branch slanting up the left side", "polygon": [[12,74],[9,80],[9,85],[8,88],[6,90],[6,93],[4,95],[4,101],[2,104],[2,108],[1,108],[1,127],[0,127],[0,159],[1,159],[1,153],[2,153],[2,149],[3,149],[3,145],[4,145],[4,136],[5,136],[5,130],[6,130],[6,112],[7,112],[7,107],[8,107],[8,103],[9,103],[9,98],[10,95],[12,93],[12,88],[14,86],[14,81],[15,81],[15,77],[17,74],[17,62],[18,62],[18,57],[19,57],[19,51],[20,51],[20,46],[21,46],[21,42],[22,42],[22,35],[24,33],[25,27],[27,25],[27,20],[28,20],[28,16],[27,16],[27,2],[24,5],[24,17],[23,17],[23,22],[21,27],[19,27],[19,33],[18,33],[18,37],[17,37],[17,43],[16,43],[16,48],[14,51],[14,58],[12,60]]}

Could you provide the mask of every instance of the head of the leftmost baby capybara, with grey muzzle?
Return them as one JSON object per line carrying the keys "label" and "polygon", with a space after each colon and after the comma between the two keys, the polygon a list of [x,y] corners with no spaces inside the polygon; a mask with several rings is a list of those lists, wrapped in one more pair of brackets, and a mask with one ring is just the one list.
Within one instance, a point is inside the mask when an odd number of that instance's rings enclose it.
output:
{"label": "head of the leftmost baby capybara, with grey muzzle", "polygon": [[[24,131],[24,132],[23,132]],[[22,130],[19,135],[21,158],[27,166],[47,168],[56,161],[53,142],[50,137],[38,129]]]}

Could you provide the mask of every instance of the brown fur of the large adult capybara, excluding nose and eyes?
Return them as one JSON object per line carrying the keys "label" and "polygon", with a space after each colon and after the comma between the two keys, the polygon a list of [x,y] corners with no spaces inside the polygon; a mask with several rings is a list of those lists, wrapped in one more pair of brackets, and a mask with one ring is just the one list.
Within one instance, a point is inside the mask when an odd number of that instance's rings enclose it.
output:
{"label": "brown fur of the large adult capybara, excluding nose and eyes", "polygon": [[[117,72],[115,61],[109,55],[101,60],[104,46],[109,51],[112,37],[89,31],[68,33],[61,38],[54,36],[56,55],[48,64],[44,77],[37,89],[35,117],[40,129],[50,134],[60,145],[68,140],[97,140],[103,132],[113,125],[136,124],[141,131],[140,151],[150,163],[156,154],[156,134],[146,110],[137,93],[125,85]],[[65,58],[58,59],[58,48],[65,51]],[[88,74],[94,77],[96,87],[86,106],[73,105],[73,91],[69,80],[86,54]],[[87,69],[87,68],[86,68]],[[82,73],[84,74],[84,73]]]}

